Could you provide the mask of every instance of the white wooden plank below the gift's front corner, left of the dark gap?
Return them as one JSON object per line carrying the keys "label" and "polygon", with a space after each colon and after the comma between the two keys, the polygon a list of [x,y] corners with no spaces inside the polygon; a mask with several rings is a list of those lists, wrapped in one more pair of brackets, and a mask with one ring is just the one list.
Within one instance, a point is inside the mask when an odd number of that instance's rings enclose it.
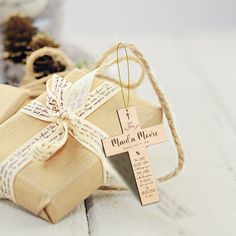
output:
{"label": "white wooden plank below the gift's front corner, left of the dark gap", "polygon": [[88,236],[84,203],[61,222],[52,225],[8,201],[0,202],[0,235],[17,236]]}

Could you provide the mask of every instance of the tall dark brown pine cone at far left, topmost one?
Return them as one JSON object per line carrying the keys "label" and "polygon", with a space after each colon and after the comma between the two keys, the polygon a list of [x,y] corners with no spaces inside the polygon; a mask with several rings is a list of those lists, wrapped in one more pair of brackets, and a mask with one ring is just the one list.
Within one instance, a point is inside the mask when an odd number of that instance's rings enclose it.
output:
{"label": "tall dark brown pine cone at far left, topmost one", "polygon": [[5,60],[25,63],[30,51],[29,44],[37,29],[29,17],[12,16],[3,26],[3,46]]}

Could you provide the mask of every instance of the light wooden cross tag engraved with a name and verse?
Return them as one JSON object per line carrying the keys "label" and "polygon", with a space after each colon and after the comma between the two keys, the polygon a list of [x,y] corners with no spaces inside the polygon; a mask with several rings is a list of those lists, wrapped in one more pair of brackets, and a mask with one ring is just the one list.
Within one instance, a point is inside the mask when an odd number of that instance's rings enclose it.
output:
{"label": "light wooden cross tag engraved with a name and verse", "polygon": [[128,152],[142,205],[159,202],[146,147],[166,141],[163,125],[141,129],[136,109],[117,110],[123,134],[102,140],[106,156]]}

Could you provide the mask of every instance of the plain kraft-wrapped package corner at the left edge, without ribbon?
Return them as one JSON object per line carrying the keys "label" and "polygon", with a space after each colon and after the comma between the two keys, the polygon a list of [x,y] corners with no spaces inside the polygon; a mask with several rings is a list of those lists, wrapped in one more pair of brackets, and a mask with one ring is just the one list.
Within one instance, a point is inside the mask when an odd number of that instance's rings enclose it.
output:
{"label": "plain kraft-wrapped package corner at the left edge, without ribbon", "polygon": [[14,115],[29,99],[26,90],[1,84],[0,85],[0,124]]}

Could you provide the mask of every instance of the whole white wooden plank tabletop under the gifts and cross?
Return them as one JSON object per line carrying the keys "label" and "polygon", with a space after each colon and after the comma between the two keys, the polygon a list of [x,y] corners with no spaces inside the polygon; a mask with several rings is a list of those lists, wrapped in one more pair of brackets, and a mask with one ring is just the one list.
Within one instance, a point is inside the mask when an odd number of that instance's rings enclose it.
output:
{"label": "whole white wooden plank tabletop under the gifts and cross", "polygon": [[[56,225],[1,201],[0,235],[236,235],[236,32],[137,39],[175,113],[183,173],[159,184],[159,204],[141,207],[132,192],[96,192]],[[98,55],[108,41],[86,45]],[[139,93],[155,99],[150,91],[146,81]],[[157,176],[176,164],[171,142],[150,156]]]}

